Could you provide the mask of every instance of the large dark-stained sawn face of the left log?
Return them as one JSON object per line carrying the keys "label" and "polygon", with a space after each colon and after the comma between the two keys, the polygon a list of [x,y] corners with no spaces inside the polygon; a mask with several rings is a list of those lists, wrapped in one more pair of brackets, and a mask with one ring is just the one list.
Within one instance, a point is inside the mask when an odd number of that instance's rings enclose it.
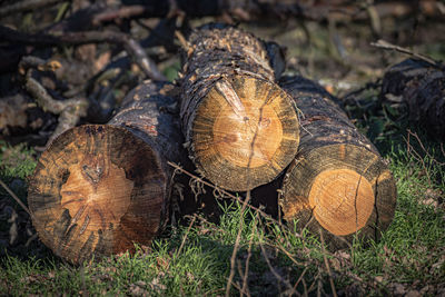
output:
{"label": "large dark-stained sawn face of the left log", "polygon": [[125,128],[82,126],[42,154],[28,202],[41,240],[81,263],[147,245],[165,212],[158,156]]}

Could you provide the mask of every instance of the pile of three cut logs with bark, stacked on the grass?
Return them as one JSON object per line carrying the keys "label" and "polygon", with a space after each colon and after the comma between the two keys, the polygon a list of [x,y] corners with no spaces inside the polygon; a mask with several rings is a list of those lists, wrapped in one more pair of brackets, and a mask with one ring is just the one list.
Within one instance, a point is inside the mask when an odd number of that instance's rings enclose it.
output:
{"label": "pile of three cut logs with bark, stacked on the grass", "polygon": [[82,263],[150,244],[169,218],[168,161],[187,156],[219,188],[280,188],[284,218],[335,247],[378,238],[395,182],[337,99],[301,77],[277,85],[279,57],[237,28],[207,24],[184,46],[180,86],[146,81],[107,125],[72,128],[41,155],[28,201],[55,254]]}

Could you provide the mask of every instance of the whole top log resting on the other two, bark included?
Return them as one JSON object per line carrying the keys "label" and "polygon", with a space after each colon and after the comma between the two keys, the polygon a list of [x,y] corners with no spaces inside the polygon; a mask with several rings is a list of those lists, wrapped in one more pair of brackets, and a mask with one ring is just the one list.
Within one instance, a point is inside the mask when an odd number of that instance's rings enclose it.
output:
{"label": "whole top log resting on the other two, bark included", "polygon": [[291,98],[274,81],[265,42],[233,27],[188,39],[181,92],[186,146],[217,186],[249,190],[275,179],[298,147]]}

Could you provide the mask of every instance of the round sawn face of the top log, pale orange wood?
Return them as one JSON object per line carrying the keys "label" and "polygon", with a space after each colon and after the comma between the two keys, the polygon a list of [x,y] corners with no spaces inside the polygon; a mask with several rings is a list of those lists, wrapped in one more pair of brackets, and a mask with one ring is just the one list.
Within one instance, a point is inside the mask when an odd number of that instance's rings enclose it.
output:
{"label": "round sawn face of the top log, pale orange wood", "polygon": [[217,81],[192,127],[198,168],[230,190],[273,180],[291,161],[298,141],[291,99],[275,83],[249,76]]}

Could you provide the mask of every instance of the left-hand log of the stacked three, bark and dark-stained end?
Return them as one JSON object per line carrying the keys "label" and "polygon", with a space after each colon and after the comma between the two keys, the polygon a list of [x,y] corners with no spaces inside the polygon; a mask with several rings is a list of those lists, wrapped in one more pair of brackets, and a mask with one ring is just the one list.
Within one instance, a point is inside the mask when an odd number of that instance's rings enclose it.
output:
{"label": "left-hand log of the stacked three, bark and dark-stained end", "polygon": [[[182,137],[171,85],[145,82],[109,125],[60,135],[41,155],[28,204],[41,241],[79,264],[149,245],[164,227]],[[185,154],[185,152],[182,152]]]}

